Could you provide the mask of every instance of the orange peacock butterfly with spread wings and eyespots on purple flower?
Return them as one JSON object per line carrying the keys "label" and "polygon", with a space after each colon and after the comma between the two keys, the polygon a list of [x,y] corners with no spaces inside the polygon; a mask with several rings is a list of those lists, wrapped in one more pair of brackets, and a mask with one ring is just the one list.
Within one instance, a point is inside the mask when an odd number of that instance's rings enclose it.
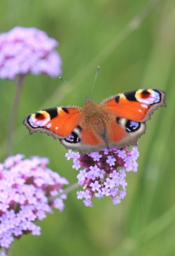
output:
{"label": "orange peacock butterfly with spread wings and eyespots on purple flower", "polygon": [[46,133],[64,147],[81,154],[103,148],[136,145],[145,133],[146,121],[165,104],[166,93],[158,89],[139,89],[107,97],[98,104],[53,107],[27,116],[23,123],[29,133]]}

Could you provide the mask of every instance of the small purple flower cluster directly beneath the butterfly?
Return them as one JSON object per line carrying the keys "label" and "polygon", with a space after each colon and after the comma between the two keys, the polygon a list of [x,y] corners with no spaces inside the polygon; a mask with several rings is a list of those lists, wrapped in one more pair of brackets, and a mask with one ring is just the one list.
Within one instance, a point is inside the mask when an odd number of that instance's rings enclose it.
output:
{"label": "small purple flower cluster directly beneath the butterfly", "polygon": [[120,203],[126,196],[127,172],[137,171],[137,147],[132,149],[102,149],[99,152],[80,155],[69,150],[68,160],[73,159],[73,168],[80,170],[78,184],[83,191],[77,192],[78,199],[84,199],[85,206],[92,206],[92,198],[111,196],[113,204]]}

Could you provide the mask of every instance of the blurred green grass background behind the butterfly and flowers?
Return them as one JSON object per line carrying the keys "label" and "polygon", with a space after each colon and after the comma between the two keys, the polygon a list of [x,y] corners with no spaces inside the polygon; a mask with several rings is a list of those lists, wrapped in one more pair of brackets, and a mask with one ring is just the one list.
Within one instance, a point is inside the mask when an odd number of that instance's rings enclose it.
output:
{"label": "blurred green grass background behind the butterfly and flowers", "polygon": [[[128,175],[123,202],[112,206],[111,198],[105,198],[85,208],[73,191],[64,213],[48,215],[39,223],[42,235],[23,237],[13,245],[12,255],[175,255],[175,2],[161,1],[137,30],[111,46],[147,2],[1,0],[1,32],[20,25],[38,27],[55,37],[63,60],[63,77],[71,84],[66,86],[59,79],[43,75],[27,76],[13,154],[48,156],[52,170],[76,182],[76,171],[64,158],[66,149],[46,135],[30,136],[22,119],[41,108],[83,105],[98,65],[101,68],[92,95],[97,102],[137,88],[167,92],[167,108],[155,112],[146,135],[139,140],[139,171]],[[3,161],[15,86],[11,81],[0,83]]]}

